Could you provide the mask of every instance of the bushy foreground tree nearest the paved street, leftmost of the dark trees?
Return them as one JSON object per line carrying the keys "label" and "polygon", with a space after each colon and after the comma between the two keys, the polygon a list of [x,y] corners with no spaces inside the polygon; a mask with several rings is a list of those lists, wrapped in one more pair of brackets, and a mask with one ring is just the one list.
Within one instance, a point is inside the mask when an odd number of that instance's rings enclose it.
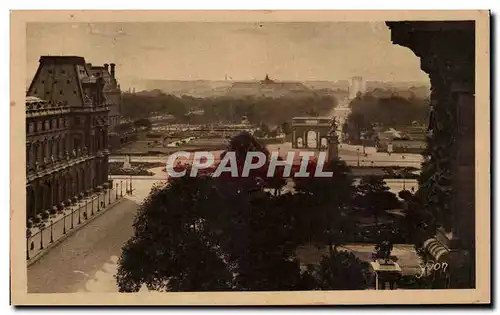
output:
{"label": "bushy foreground tree nearest the paved street, leftmost of the dark trees", "polygon": [[117,272],[120,292],[144,284],[158,291],[231,289],[232,275],[207,236],[206,203],[218,205],[209,177],[175,178],[156,186],[141,205],[134,235],[123,247]]}

